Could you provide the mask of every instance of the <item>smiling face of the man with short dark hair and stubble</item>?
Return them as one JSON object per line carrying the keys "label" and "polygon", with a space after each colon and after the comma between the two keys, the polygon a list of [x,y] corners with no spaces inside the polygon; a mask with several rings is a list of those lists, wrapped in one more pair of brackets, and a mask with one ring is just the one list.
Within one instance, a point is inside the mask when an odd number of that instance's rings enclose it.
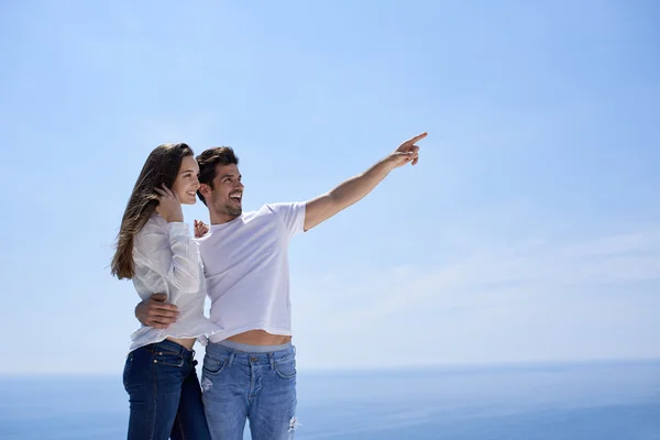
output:
{"label": "smiling face of the man with short dark hair and stubble", "polygon": [[243,184],[237,165],[216,165],[210,195],[210,200],[205,195],[207,206],[217,215],[237,218],[243,212]]}

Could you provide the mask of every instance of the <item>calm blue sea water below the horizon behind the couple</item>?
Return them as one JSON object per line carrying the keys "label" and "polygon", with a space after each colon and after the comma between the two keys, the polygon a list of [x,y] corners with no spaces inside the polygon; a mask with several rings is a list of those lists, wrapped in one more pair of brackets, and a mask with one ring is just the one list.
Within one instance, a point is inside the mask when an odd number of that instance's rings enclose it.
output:
{"label": "calm blue sea water below the horizon behind the couple", "polygon": [[[298,419],[300,440],[660,440],[660,362],[300,372]],[[0,377],[0,439],[122,439],[127,420],[120,375]]]}

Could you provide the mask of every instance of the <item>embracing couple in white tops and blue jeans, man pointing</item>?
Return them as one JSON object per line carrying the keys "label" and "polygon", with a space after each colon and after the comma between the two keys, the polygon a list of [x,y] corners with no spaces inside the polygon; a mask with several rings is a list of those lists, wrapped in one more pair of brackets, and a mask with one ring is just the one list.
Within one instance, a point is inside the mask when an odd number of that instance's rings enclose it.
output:
{"label": "embracing couple in white tops and blue jeans, man pointing", "polygon": [[[123,383],[129,440],[292,439],[296,360],[292,345],[288,242],[366,196],[394,168],[417,164],[417,135],[366,172],[307,202],[243,212],[232,148],[197,157],[183,143],[156,147],[124,211],[112,274],[132,279],[142,322]],[[210,227],[184,223],[196,195]],[[158,298],[153,294],[162,294]],[[204,316],[205,295],[211,300]],[[193,345],[206,344],[201,386]],[[204,388],[204,393],[202,393]]]}

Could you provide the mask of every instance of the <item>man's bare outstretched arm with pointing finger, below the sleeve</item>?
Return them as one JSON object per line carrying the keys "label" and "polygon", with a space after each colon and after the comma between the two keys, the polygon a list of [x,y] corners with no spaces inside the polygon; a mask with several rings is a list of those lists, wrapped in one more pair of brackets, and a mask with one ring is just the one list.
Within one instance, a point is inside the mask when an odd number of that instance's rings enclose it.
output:
{"label": "man's bare outstretched arm with pointing finger, below the sleeve", "polygon": [[415,145],[427,136],[421,133],[399,145],[392,154],[359,176],[351,177],[330,193],[307,202],[305,207],[305,231],[328,220],[370,194],[394,169],[419,161],[419,146]]}

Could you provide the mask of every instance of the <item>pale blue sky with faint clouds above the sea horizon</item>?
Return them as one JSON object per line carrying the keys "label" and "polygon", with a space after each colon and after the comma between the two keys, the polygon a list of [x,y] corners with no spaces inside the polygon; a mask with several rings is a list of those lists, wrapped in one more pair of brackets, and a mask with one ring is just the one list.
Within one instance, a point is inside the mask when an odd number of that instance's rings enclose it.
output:
{"label": "pale blue sky with faint clouds above the sea horizon", "polygon": [[[652,1],[4,2],[0,373],[116,373],[108,265],[148,152],[231,145],[307,200],[417,167],[292,242],[300,369],[660,358]],[[201,204],[186,218],[207,220]]]}

